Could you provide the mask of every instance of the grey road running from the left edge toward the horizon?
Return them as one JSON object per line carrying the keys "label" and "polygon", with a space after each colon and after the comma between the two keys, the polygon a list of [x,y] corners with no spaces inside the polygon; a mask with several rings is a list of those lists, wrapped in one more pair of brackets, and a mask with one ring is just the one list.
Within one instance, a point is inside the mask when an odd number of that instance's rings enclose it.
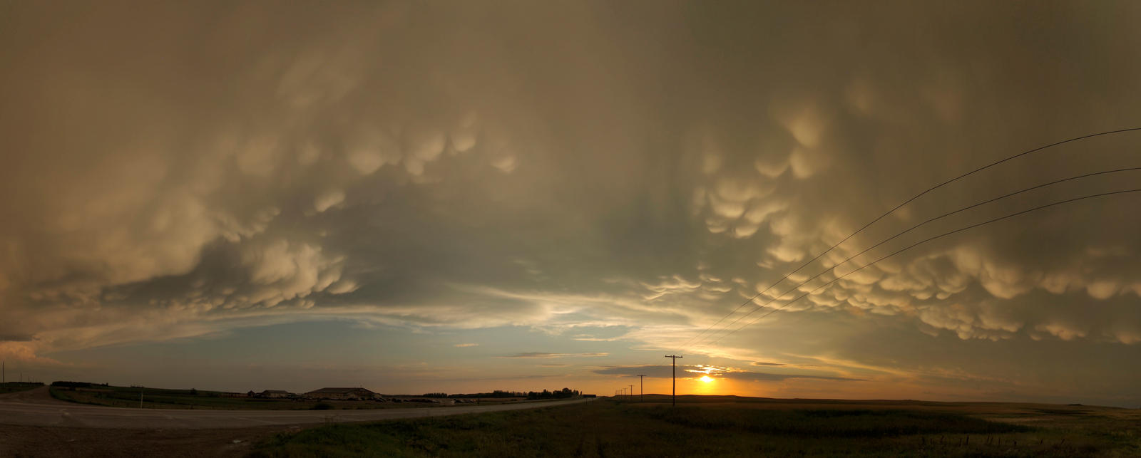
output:
{"label": "grey road running from the left edge toward the horizon", "polygon": [[42,387],[0,395],[0,424],[97,428],[222,428],[438,417],[566,406],[585,401],[589,400],[362,410],[128,409],[59,401],[50,398],[48,389]]}

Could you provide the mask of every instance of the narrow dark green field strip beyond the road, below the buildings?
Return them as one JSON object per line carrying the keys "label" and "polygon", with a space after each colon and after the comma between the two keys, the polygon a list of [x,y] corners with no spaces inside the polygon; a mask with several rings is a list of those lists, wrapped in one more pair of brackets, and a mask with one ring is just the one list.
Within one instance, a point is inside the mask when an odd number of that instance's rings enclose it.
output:
{"label": "narrow dark green field strip beyond the road, below the buildings", "polygon": [[[42,386],[42,385],[37,385]],[[317,401],[293,399],[224,398],[221,393],[199,390],[139,389],[135,386],[95,385],[91,387],[51,386],[51,396],[70,402],[107,407],[143,407],[147,409],[225,409],[225,410],[356,410],[446,407],[420,402]],[[518,402],[504,399],[480,400],[483,404]]]}

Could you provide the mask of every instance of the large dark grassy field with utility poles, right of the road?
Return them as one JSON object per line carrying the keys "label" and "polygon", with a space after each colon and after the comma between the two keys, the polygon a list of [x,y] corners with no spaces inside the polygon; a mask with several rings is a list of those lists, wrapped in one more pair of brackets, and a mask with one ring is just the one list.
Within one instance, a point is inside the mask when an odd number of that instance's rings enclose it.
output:
{"label": "large dark grassy field with utility poles, right of the road", "polygon": [[[656,398],[656,396],[655,396]],[[1141,456],[1141,410],[685,396],[280,434],[258,457]]]}

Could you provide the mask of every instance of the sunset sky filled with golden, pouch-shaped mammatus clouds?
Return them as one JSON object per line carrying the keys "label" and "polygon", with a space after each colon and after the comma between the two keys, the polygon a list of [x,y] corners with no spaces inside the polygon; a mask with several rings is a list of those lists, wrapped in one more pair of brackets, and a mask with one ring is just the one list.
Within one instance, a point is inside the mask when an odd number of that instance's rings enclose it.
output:
{"label": "sunset sky filled with golden, pouch-shaped mammatus clouds", "polygon": [[857,270],[1141,188],[1115,171],[1141,131],[847,238],[1141,128],[1139,19],[5,2],[0,359],[8,381],[609,395],[667,393],[681,354],[679,393],[1141,407],[1141,193]]}

